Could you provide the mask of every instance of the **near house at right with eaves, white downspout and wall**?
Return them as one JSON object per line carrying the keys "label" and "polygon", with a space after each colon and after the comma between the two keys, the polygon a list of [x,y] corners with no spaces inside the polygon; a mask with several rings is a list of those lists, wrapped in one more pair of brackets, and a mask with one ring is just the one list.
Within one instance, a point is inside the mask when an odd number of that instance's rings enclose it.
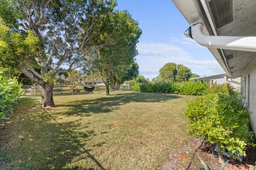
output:
{"label": "near house at right with eaves, white downspout and wall", "polygon": [[[256,132],[256,1],[173,0],[190,27],[185,35],[207,47],[229,78],[241,77]],[[186,28],[185,28],[186,29]]]}

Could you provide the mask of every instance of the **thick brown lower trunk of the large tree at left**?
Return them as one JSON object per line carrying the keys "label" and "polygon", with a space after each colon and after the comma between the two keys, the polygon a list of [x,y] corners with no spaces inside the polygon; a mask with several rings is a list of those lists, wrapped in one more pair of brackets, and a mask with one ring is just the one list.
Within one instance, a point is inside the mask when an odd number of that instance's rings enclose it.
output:
{"label": "thick brown lower trunk of the large tree at left", "polygon": [[53,87],[54,84],[48,83],[45,83],[43,86],[41,86],[41,107],[54,106]]}

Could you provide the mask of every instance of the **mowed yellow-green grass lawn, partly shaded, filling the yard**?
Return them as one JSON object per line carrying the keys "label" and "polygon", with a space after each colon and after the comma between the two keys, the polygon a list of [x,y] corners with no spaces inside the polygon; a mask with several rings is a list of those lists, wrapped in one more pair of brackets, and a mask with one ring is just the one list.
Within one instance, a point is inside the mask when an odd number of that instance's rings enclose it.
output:
{"label": "mowed yellow-green grass lawn, partly shaded, filling the yard", "polygon": [[161,169],[191,137],[194,96],[131,91],[21,98],[0,132],[0,169]]}

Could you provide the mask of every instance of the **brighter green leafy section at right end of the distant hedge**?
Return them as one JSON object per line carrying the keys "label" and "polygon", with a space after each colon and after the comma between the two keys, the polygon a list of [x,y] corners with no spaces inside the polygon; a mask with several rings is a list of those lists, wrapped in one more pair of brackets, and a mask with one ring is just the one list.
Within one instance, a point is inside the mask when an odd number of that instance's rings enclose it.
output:
{"label": "brighter green leafy section at right end of the distant hedge", "polygon": [[209,85],[205,81],[183,81],[180,83],[174,83],[174,93],[201,96],[208,87]]}

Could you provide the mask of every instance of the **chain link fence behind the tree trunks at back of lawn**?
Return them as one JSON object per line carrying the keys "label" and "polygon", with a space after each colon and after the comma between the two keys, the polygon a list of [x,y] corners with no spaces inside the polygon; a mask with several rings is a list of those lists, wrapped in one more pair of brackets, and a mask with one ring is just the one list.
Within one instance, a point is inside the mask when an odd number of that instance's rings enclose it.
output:
{"label": "chain link fence behind the tree trunks at back of lawn", "polygon": [[[86,87],[92,87],[92,85],[87,85]],[[41,95],[41,87],[37,85],[23,85],[21,86],[22,96],[40,96]],[[130,90],[129,85],[110,85],[109,91],[117,91]],[[91,94],[91,93],[103,93],[106,92],[105,85],[95,85],[95,89],[92,92],[87,92],[84,90],[84,86],[72,86],[72,85],[62,85],[62,86],[54,86],[53,88],[53,96],[54,95],[76,95],[76,94]]]}

